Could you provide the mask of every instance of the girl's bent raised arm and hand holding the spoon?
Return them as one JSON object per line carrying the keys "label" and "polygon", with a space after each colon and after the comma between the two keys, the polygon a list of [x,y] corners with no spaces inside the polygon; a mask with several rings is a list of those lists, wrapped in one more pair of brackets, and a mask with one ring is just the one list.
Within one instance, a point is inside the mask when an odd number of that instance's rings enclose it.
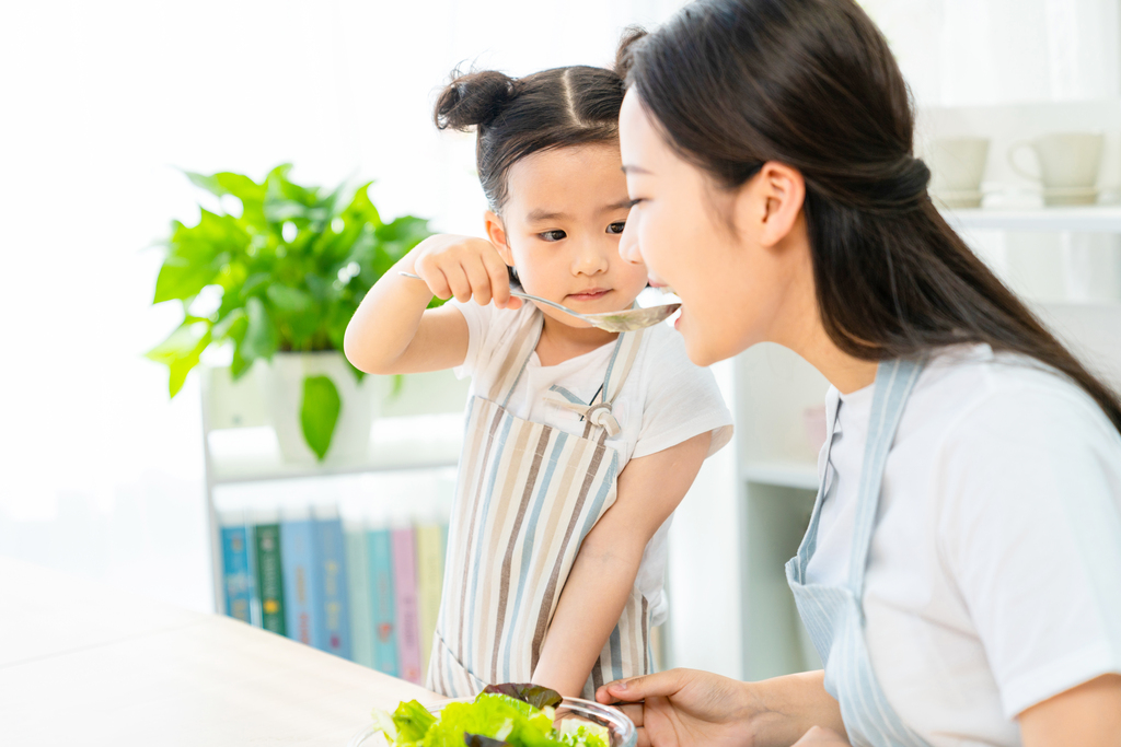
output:
{"label": "girl's bent raised arm and hand holding the spoon", "polygon": [[[413,272],[424,281],[406,278]],[[425,239],[381,277],[346,325],[343,351],[367,373],[441,371],[467,355],[467,323],[453,307],[428,309],[433,295],[474,298],[485,306],[517,308],[510,298],[506,262],[482,239],[438,235]]]}

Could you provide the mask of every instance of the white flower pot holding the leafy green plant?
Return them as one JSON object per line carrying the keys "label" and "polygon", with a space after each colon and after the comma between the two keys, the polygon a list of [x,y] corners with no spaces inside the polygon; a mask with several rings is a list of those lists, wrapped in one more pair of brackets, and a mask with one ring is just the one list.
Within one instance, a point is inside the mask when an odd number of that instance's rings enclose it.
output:
{"label": "white flower pot holding the leafy green plant", "polygon": [[260,366],[265,408],[286,461],[315,464],[315,452],[304,440],[299,410],[304,401],[304,380],[327,376],[339,390],[341,407],[331,448],[324,464],[358,461],[370,448],[370,428],[383,399],[381,376],[365,376],[361,383],[346,365],[343,354],[277,353],[270,365]]}

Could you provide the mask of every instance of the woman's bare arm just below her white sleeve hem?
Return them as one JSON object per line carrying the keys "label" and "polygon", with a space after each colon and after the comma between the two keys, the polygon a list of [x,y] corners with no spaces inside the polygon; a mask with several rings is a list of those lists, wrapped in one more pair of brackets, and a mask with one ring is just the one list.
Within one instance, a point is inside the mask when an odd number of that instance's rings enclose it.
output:
{"label": "woman's bare arm just below her white sleeve hem", "polygon": [[1023,747],[1121,747],[1121,674],[1103,674],[1017,717]]}

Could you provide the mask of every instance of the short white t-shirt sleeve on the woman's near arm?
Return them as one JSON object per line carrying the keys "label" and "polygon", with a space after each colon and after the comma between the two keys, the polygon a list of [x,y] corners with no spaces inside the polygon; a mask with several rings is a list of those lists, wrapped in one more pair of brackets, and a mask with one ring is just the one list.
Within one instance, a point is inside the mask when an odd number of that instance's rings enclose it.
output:
{"label": "short white t-shirt sleeve on the woman's near arm", "polygon": [[988,398],[951,433],[939,551],[1006,717],[1121,673],[1117,431],[1081,393],[1025,387]]}

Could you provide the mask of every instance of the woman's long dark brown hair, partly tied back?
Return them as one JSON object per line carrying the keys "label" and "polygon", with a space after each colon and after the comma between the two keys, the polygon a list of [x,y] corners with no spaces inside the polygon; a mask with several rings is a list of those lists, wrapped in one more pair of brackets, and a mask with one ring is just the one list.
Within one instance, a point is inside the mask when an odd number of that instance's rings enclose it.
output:
{"label": "woman's long dark brown hair, partly tied back", "polygon": [[700,0],[654,34],[628,31],[617,67],[721,186],[767,161],[802,172],[817,305],[842,351],[881,361],[988,343],[1069,376],[1121,431],[1118,395],[930,202],[910,92],[854,0]]}

